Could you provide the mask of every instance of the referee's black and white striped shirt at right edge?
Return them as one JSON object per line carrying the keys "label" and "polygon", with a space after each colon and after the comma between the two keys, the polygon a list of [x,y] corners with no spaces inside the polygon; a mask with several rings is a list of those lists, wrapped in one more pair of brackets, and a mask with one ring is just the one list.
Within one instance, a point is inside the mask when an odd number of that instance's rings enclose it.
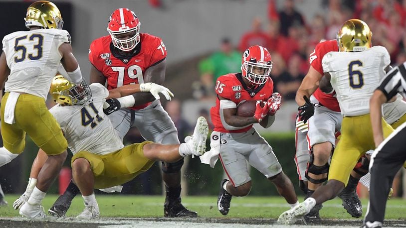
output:
{"label": "referee's black and white striped shirt at right edge", "polygon": [[382,91],[388,101],[397,93],[406,98],[406,62],[388,72],[377,90]]}

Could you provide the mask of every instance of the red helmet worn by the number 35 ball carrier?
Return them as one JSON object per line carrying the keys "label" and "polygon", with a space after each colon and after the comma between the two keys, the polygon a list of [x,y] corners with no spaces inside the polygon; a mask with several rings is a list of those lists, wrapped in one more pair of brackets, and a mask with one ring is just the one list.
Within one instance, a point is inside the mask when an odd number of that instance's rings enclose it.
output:
{"label": "red helmet worn by the number 35 ball carrier", "polygon": [[262,46],[251,46],[242,54],[242,76],[254,85],[262,85],[268,80],[272,65],[271,54]]}

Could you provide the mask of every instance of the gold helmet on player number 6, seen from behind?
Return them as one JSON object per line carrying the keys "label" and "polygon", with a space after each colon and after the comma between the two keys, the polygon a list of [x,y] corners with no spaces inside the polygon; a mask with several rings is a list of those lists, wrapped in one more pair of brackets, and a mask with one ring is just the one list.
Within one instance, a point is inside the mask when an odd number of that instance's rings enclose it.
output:
{"label": "gold helmet on player number 6, seen from behind", "polygon": [[365,51],[372,46],[371,29],[362,20],[347,20],[337,33],[337,43],[339,51]]}

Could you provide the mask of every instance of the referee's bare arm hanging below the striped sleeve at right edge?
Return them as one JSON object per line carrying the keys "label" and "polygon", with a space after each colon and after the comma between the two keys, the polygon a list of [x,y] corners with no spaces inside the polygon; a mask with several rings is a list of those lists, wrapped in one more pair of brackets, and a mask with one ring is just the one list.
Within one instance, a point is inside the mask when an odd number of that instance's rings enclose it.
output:
{"label": "referee's bare arm hanging below the striped sleeve at right edge", "polygon": [[374,133],[375,146],[378,147],[384,141],[384,133],[382,131],[382,104],[387,102],[387,98],[381,90],[375,90],[370,99],[370,114],[372,132]]}

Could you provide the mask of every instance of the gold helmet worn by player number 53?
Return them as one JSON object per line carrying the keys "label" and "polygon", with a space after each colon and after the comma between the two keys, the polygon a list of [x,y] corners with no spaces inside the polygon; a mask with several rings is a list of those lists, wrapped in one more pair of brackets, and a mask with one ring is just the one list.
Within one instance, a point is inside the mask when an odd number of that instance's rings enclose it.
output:
{"label": "gold helmet worn by player number 53", "polygon": [[63,20],[58,7],[50,1],[35,1],[27,8],[25,27],[39,26],[43,28],[62,29]]}

